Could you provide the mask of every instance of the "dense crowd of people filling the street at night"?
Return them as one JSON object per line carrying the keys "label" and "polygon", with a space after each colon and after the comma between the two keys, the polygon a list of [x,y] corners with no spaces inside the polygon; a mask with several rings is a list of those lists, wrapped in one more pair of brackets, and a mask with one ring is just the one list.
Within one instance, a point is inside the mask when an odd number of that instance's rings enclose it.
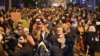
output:
{"label": "dense crowd of people filling the street at night", "polygon": [[[21,19],[11,20],[11,12]],[[0,45],[6,56],[95,56],[100,51],[100,11],[67,6],[0,10]]]}

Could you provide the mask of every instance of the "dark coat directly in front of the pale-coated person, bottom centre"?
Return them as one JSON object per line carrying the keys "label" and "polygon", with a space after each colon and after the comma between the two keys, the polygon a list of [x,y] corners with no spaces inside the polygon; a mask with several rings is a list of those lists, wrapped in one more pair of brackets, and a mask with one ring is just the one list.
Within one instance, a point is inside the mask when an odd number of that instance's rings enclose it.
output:
{"label": "dark coat directly in front of the pale-coated person, bottom centre", "polygon": [[60,48],[61,44],[58,42],[58,36],[53,35],[50,37],[51,45],[52,45],[52,50],[51,50],[51,56],[63,56],[62,50]]}

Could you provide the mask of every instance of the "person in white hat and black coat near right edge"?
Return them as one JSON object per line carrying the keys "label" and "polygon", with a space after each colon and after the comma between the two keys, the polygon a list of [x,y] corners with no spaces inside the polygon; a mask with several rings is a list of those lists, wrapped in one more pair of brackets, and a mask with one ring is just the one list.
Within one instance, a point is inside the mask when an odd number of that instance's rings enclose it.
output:
{"label": "person in white hat and black coat near right edge", "polygon": [[87,50],[89,51],[90,56],[95,56],[95,41],[96,41],[96,28],[94,25],[90,26],[88,29],[88,33],[86,36],[86,45],[87,45]]}

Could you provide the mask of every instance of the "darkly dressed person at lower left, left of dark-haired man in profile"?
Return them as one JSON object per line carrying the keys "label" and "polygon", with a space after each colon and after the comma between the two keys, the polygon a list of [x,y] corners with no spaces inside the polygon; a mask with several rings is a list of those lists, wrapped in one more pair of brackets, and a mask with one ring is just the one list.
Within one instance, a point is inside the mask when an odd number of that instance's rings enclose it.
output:
{"label": "darkly dressed person at lower left, left of dark-haired man in profile", "polygon": [[18,38],[19,35],[16,33],[12,32],[11,27],[6,27],[5,29],[5,34],[3,38],[3,48],[5,50],[5,53],[8,53],[8,56],[13,56],[15,52],[15,47],[17,46],[18,43]]}

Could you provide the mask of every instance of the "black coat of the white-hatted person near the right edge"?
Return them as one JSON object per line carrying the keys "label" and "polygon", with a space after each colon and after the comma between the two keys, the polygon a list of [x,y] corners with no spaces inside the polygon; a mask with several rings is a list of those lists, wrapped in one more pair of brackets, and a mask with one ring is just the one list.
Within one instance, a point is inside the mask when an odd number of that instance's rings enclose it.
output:
{"label": "black coat of the white-hatted person near the right edge", "polygon": [[[95,38],[97,37],[96,32],[88,32],[85,37],[85,44],[89,46],[89,54],[90,56],[95,56]],[[87,49],[87,47],[86,47]]]}

